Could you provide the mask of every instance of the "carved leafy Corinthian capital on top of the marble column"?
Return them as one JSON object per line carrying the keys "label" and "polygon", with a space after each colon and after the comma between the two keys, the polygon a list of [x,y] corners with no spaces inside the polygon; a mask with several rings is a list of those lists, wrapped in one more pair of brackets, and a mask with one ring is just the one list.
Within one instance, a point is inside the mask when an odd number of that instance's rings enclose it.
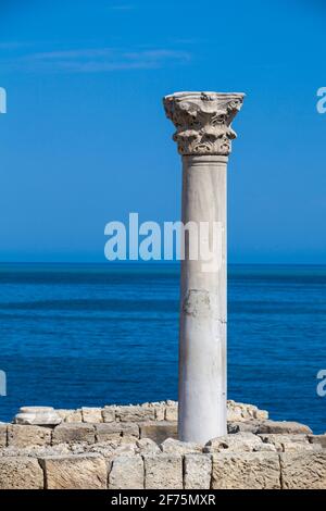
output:
{"label": "carved leafy Corinthian capital on top of the marble column", "polygon": [[242,107],[243,94],[176,92],[163,99],[176,127],[173,139],[183,155],[228,155],[237,137],[230,124]]}

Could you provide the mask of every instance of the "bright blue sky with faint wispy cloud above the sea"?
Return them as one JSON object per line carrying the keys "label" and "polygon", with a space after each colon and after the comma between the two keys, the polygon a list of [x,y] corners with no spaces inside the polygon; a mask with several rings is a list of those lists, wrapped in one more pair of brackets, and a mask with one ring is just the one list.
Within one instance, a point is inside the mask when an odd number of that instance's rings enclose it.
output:
{"label": "bright blue sky with faint wispy cloud above the sea", "polygon": [[326,5],[1,0],[1,261],[105,261],[104,225],[180,214],[161,98],[244,91],[230,262],[326,262]]}

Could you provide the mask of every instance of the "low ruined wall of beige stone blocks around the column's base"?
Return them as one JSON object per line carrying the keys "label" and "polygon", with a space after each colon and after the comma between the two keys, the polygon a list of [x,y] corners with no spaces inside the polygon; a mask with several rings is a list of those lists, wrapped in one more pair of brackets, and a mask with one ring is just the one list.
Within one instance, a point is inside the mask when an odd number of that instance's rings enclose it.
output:
{"label": "low ruined wall of beige stone blocks around the column's base", "polygon": [[229,401],[229,434],[203,446],[176,419],[173,401],[21,409],[0,424],[0,488],[326,488],[326,435],[303,424]]}

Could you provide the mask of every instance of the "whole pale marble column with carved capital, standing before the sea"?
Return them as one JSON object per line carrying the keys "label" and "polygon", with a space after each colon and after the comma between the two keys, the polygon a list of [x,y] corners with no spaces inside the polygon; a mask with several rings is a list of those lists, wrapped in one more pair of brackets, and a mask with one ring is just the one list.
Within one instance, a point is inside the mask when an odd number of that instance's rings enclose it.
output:
{"label": "whole pale marble column with carved capital, standing before the sea", "polygon": [[[198,226],[198,257],[185,229],[181,260],[178,434],[184,441],[204,444],[227,433],[226,182],[236,138],[230,124],[243,96],[177,92],[163,100],[183,157],[181,221],[184,226],[189,222]],[[201,253],[205,239],[212,256],[209,263]]]}

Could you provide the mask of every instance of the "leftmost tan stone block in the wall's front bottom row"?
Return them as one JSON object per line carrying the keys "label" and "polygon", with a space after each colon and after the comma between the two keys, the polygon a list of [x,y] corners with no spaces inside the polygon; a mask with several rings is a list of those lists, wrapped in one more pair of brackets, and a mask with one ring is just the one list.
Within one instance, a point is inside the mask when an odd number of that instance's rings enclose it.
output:
{"label": "leftmost tan stone block in the wall's front bottom row", "polygon": [[43,471],[37,459],[0,458],[0,489],[42,489],[43,485]]}

